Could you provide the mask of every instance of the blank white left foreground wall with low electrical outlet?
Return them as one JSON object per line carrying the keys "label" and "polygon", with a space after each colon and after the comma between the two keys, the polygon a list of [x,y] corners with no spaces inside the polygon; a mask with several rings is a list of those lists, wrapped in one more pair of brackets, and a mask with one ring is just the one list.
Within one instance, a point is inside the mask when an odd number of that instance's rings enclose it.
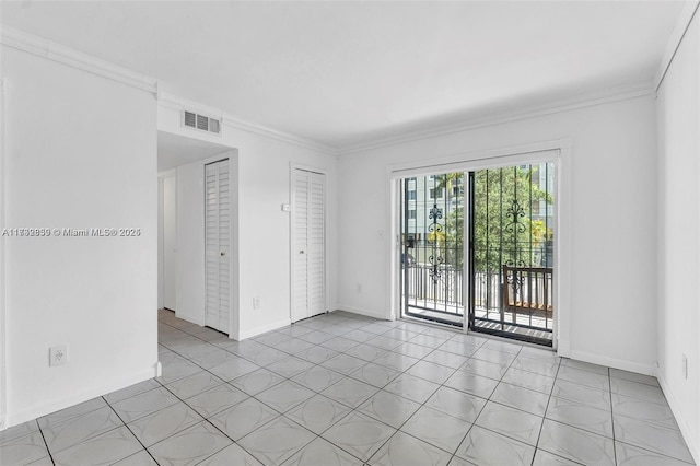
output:
{"label": "blank white left foreground wall with low electrical outlet", "polygon": [[[2,46],[8,228],[137,228],[139,237],[5,237],[7,421],[152,377],[156,102]],[[50,346],[69,362],[49,368]]]}

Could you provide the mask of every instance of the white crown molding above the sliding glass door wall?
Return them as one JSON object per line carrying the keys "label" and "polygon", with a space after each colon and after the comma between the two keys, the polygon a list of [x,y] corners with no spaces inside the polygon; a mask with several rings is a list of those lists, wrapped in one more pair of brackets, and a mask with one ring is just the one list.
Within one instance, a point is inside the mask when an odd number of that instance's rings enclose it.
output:
{"label": "white crown molding above the sliding glass door wall", "polygon": [[549,103],[547,105],[538,105],[522,108],[518,112],[502,112],[500,114],[490,115],[485,118],[464,119],[457,124],[442,125],[425,130],[410,131],[388,138],[380,138],[374,141],[361,142],[359,144],[345,145],[337,151],[338,155],[350,155],[358,152],[382,149],[392,145],[416,142],[423,139],[438,138],[443,136],[455,135],[458,132],[470,131],[489,126],[503,125],[512,121],[518,121],[529,118],[541,117],[546,115],[558,114],[562,112],[574,110],[579,108],[603,105],[629,98],[654,96],[652,83],[638,84],[627,88],[617,88],[605,93],[592,94],[584,97],[561,100]]}

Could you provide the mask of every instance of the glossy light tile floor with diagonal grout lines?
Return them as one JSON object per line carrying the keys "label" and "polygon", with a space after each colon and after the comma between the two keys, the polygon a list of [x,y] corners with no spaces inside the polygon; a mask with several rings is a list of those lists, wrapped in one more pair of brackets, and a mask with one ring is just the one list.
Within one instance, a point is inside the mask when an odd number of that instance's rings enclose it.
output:
{"label": "glossy light tile floor with diagonal grout lines", "polygon": [[162,377],[0,432],[0,464],[692,464],[653,377],[345,312],[242,342],[159,317]]}

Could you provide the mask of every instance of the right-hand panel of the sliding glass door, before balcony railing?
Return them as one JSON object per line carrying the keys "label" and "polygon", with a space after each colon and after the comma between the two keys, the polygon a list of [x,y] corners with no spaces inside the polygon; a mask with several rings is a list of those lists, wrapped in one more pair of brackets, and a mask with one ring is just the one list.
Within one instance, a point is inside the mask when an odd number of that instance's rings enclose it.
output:
{"label": "right-hand panel of the sliding glass door, before balcony railing", "polygon": [[[551,280],[557,270],[553,260],[556,257],[552,257],[555,247],[550,249],[546,246],[546,243],[544,246],[538,246],[532,223],[529,222],[535,218],[541,220],[542,217],[541,211],[539,211],[541,205],[538,205],[537,212],[534,212],[533,201],[535,199],[542,201],[544,199],[549,199],[549,196],[551,196],[553,202],[545,200],[545,220],[541,226],[544,226],[546,232],[540,241],[547,237],[547,232],[552,232],[555,240],[552,246],[557,245],[559,236],[556,223],[558,199],[555,189],[557,165],[557,162],[534,158],[529,162],[520,162],[514,165],[489,166],[465,174],[467,175],[465,177],[468,178],[466,183],[467,198],[465,203],[470,208],[468,218],[465,219],[464,224],[467,232],[466,243],[468,245],[468,252],[466,255],[469,267],[467,278],[467,280],[469,280],[469,290],[465,307],[468,313],[468,326],[471,331],[544,347],[551,348],[553,346],[555,328],[559,316],[556,306],[557,303],[552,302],[552,296],[550,296],[548,290],[553,291],[555,288],[551,286]],[[537,168],[536,172],[535,168]],[[529,178],[533,173],[538,174],[537,183]],[[491,179],[492,174],[497,175],[495,179]],[[544,188],[541,185],[542,174],[545,176]],[[521,178],[521,176],[523,176],[523,178]],[[513,186],[505,190],[504,183],[508,184],[509,179]],[[524,180],[517,182],[516,179]],[[483,185],[485,183],[486,185]],[[479,186],[481,186],[481,189],[479,189]],[[495,193],[491,193],[489,186],[495,186]],[[487,193],[482,191],[483,188],[487,189]],[[477,191],[481,191],[481,194],[478,195],[479,197],[477,197]],[[524,197],[524,199],[518,199],[518,196]],[[503,203],[504,198],[509,199],[505,203]],[[495,199],[495,206],[488,206],[489,199]],[[481,209],[486,208],[486,218],[481,215],[480,219],[476,219],[476,212],[479,211],[479,208],[476,207],[477,205],[481,206]],[[550,206],[550,208],[548,209],[547,206]],[[494,214],[489,214],[491,208],[494,208]],[[551,217],[549,212],[551,212]],[[533,217],[533,214],[537,217]],[[481,234],[486,235],[486,237],[477,238],[477,230],[479,228],[482,229]],[[493,230],[493,228],[495,228],[495,230]],[[491,238],[491,233],[489,232],[492,231],[498,231],[500,238]],[[509,232],[512,237],[506,240],[504,235],[506,236]],[[523,236],[525,236],[524,241],[522,240]],[[479,244],[480,242],[478,240],[485,243]],[[489,240],[491,240],[491,243]],[[481,267],[477,265],[479,252],[483,255],[481,258]],[[539,253],[539,257],[537,253]],[[491,254],[492,258],[494,254],[498,255],[498,261],[494,267],[489,266],[489,254]],[[541,265],[542,257],[545,261],[544,266]],[[505,271],[506,266],[510,268],[510,272]],[[486,267],[486,269],[483,267]],[[506,277],[506,273],[512,273],[511,278]],[[481,275],[481,280],[486,277],[486,287],[483,282],[481,282],[481,287],[477,284],[479,275]],[[497,279],[493,280],[493,278]],[[494,287],[489,283],[494,283]],[[512,283],[513,290],[511,290],[511,292],[524,293],[520,299],[527,300],[526,303],[529,304],[521,310],[516,310],[518,305],[514,302],[513,305],[506,310],[505,304],[501,302],[504,299],[502,294],[503,283]],[[520,286],[516,283],[520,283]],[[556,281],[553,283],[556,284]],[[520,287],[522,287],[521,291],[515,291]],[[486,295],[483,293],[486,293]],[[535,298],[537,300],[535,307],[532,306],[533,298],[530,293],[534,293],[535,296],[539,295],[539,298]],[[513,296],[514,301],[517,298]],[[544,308],[539,308],[539,304],[541,304],[540,300],[542,299]],[[498,305],[493,306],[494,303],[498,303]],[[553,306],[550,307],[552,304]],[[544,314],[544,322],[541,321],[542,317],[538,315],[540,312]],[[497,316],[500,314],[500,317],[492,317],[491,315],[493,313],[495,313]],[[549,313],[551,313],[551,317],[548,316]],[[505,319],[506,314],[510,315],[509,321]],[[518,315],[521,317],[517,317]],[[522,317],[524,316],[528,317],[527,322],[522,322]],[[533,323],[533,318],[536,319],[535,323]],[[479,324],[477,324],[477,322]]]}

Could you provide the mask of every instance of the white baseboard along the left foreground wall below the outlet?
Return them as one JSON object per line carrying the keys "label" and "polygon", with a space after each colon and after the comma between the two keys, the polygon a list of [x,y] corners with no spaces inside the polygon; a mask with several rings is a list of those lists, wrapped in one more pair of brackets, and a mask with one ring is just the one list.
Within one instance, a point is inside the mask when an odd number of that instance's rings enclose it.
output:
{"label": "white baseboard along the left foreground wall below the outlet", "polygon": [[128,377],[114,378],[107,382],[103,382],[98,385],[92,386],[89,389],[82,392],[72,393],[69,396],[59,398],[52,398],[46,403],[34,405],[30,408],[16,411],[8,412],[7,427],[19,426],[23,422],[31,421],[33,419],[40,418],[42,416],[50,415],[51,412],[60,411],[61,409],[70,408],[80,403],[88,401],[98,396],[106,395],[112,392],[116,392],[121,388],[126,388],[130,385],[138,384],[139,382],[148,381],[160,375],[161,363],[156,362],[148,369],[131,374]]}

